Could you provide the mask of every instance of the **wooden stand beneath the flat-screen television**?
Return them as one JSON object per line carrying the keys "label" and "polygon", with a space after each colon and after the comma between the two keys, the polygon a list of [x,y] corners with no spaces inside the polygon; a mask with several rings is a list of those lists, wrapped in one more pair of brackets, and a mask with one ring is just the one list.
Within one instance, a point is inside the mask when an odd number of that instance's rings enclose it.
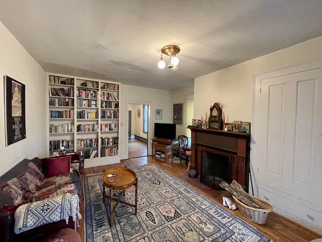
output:
{"label": "wooden stand beneath the flat-screen television", "polygon": [[[152,159],[160,160],[160,161],[171,161],[173,158],[173,145],[179,142],[178,140],[171,140],[171,139],[159,139],[153,138],[152,139]],[[155,157],[155,152],[161,152],[165,154],[165,159],[158,159]]]}

